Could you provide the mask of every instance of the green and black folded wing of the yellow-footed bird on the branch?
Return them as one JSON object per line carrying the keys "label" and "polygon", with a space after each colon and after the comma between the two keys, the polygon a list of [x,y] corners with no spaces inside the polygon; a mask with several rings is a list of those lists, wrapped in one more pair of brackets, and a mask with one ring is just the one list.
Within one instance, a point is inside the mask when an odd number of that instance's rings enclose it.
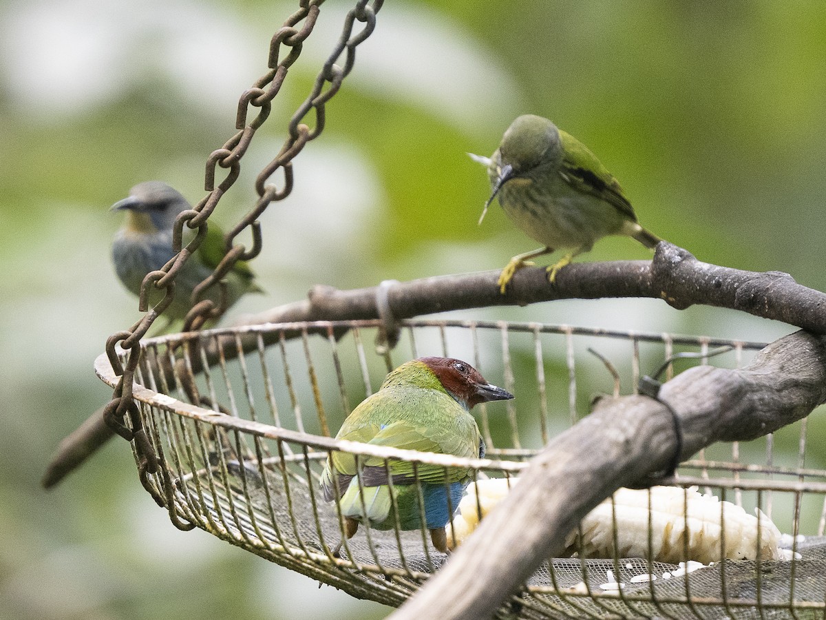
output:
{"label": "green and black folded wing of the yellow-footed bird on the branch", "polygon": [[637,221],[634,208],[619,187],[619,182],[608,169],[596,159],[596,155],[565,131],[559,130],[559,140],[563,146],[563,163],[559,170],[568,184],[582,192],[602,198],[614,205],[619,212],[632,222]]}

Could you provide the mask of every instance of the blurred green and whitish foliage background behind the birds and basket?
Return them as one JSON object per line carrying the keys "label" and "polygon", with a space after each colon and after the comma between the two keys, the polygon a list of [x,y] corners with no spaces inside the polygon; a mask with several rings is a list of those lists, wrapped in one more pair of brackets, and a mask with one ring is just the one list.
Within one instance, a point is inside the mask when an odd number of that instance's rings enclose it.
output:
{"label": "blurred green and whitish foliage background behind the birds and basket", "polygon": [[[145,179],[202,196],[291,2],[86,0],[0,6],[0,617],[380,618],[361,603],[203,532],[182,533],[112,441],[46,493],[59,440],[107,398],[92,361],[138,316],[116,282],[108,205]],[[254,199],[335,41],[320,26],[216,219]],[[388,0],[295,193],[263,217],[267,296],[312,284],[496,269],[534,242],[491,209],[465,155],[489,155],[521,113],[552,118],[617,176],[640,221],[701,260],[776,269],[826,289],[826,4],[705,0]],[[626,239],[582,260],[646,258]],[[503,317],[769,340],[790,330],[662,303],[546,304]],[[815,429],[819,428],[815,427]],[[822,433],[814,434],[814,438]]]}

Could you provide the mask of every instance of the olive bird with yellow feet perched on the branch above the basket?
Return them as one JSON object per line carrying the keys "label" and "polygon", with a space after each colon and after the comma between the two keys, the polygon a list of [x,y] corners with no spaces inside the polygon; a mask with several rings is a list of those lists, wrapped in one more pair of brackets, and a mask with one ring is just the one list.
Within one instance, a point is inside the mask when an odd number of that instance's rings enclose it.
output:
{"label": "olive bird with yellow feet perched on the branch above the basket", "polygon": [[569,251],[548,267],[552,283],[559,269],[604,236],[631,236],[648,248],[662,241],[638,224],[617,179],[596,155],[547,118],[518,117],[490,159],[471,157],[487,165],[491,179],[491,198],[479,223],[498,197],[510,220],[544,246],[510,259],[499,276],[502,294],[517,269],[559,248]]}

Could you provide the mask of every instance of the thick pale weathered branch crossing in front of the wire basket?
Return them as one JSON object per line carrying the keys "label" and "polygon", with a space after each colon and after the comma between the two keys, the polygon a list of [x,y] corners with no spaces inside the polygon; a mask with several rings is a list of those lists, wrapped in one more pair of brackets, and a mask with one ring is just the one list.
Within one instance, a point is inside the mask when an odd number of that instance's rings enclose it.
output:
{"label": "thick pale weathered branch crossing in front of the wire basket", "polygon": [[[776,431],[826,402],[826,336],[798,331],[742,370],[686,370],[660,398],[680,418],[684,459],[714,441]],[[667,468],[675,446],[662,403],[603,399],[531,461],[522,483],[391,618],[490,618],[543,560],[563,551],[582,517],[619,487]]]}

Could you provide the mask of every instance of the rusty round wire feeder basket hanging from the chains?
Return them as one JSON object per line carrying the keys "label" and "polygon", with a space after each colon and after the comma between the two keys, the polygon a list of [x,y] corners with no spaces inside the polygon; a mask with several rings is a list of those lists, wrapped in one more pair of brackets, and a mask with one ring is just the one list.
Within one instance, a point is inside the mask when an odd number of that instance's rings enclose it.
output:
{"label": "rusty round wire feeder basket hanging from the chains", "polygon": [[[463,467],[472,471],[473,480],[506,479],[507,485],[518,480],[550,438],[587,415],[595,393],[610,391],[610,374],[589,349],[612,360],[626,385],[636,386],[644,371],[677,353],[693,352],[698,359],[675,361],[667,367],[669,375],[692,363],[741,367],[763,346],[539,323],[408,320],[401,325],[401,339],[392,350],[373,345],[378,322],[267,324],[141,341],[133,390],[139,416],[132,426],[137,422],[145,430],[157,456],[157,467],[150,468],[154,473],[147,471],[144,450],[133,441],[145,487],[178,527],[200,527],[358,598],[398,606],[447,556],[430,545],[426,530],[398,527],[362,527],[353,538],[344,538],[340,557],[334,556],[344,518],[336,503],[324,501],[319,485],[331,451],[349,452],[357,463],[380,457],[387,464],[409,460]],[[730,349],[710,356],[719,346]],[[487,458],[333,438],[388,370],[424,355],[467,360],[491,383],[516,394],[513,401],[473,410]],[[116,386],[119,377],[106,355],[97,359],[96,370]],[[797,454],[781,458],[776,446],[795,446]],[[657,560],[653,553],[586,559],[575,543],[567,557],[544,562],[498,613],[522,618],[823,617],[826,471],[805,469],[806,451],[804,419],[748,444],[715,444],[684,462],[678,475],[682,487],[700,481],[699,492],[714,494],[719,505],[729,502],[749,514],[762,510],[789,535],[778,542],[786,547],[786,560],[760,557],[757,551],[745,560],[718,561],[691,572],[693,565],[686,571],[686,565]],[[626,527],[620,512],[619,506],[613,508],[610,537]],[[727,531],[730,513],[715,515]],[[684,520],[690,532],[687,514]],[[662,537],[650,523],[642,518],[643,537]],[[757,536],[766,537],[767,527],[760,523]],[[682,537],[675,544],[681,549]]]}

